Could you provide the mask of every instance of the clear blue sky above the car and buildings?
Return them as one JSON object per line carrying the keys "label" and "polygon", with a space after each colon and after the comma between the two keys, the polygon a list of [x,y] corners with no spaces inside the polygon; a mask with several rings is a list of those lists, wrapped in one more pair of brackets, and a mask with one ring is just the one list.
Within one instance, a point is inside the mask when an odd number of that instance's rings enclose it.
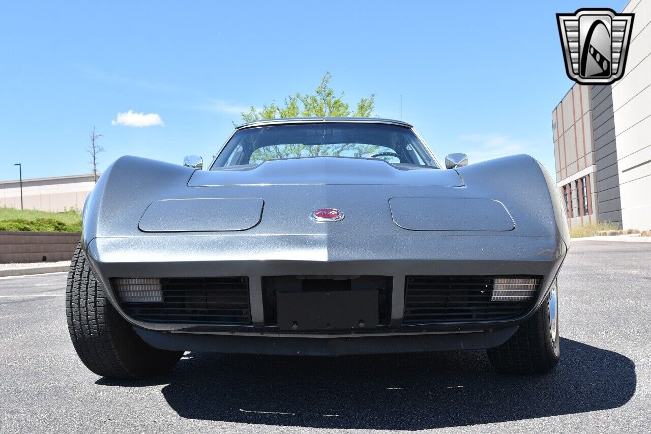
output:
{"label": "clear blue sky above the car and buildings", "polygon": [[[400,119],[402,94],[439,159],[527,153],[553,171],[551,111],[572,85],[555,13],[625,4],[6,2],[0,180],[18,162],[24,178],[89,173],[93,126],[100,171],[124,154],[209,159],[240,111],[312,92],[328,70],[350,102],[375,93],[380,117]],[[154,125],[124,125],[128,111]]]}

